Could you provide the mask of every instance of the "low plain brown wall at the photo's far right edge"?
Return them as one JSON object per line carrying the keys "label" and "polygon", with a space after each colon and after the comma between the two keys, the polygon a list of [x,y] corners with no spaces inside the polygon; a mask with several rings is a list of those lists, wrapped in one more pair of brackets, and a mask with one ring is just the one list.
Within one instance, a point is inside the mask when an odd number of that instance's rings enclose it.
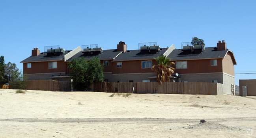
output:
{"label": "low plain brown wall at the photo's far right edge", "polygon": [[240,96],[243,96],[243,86],[247,86],[247,96],[256,96],[256,79],[239,80]]}

